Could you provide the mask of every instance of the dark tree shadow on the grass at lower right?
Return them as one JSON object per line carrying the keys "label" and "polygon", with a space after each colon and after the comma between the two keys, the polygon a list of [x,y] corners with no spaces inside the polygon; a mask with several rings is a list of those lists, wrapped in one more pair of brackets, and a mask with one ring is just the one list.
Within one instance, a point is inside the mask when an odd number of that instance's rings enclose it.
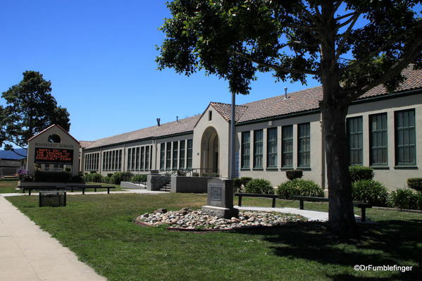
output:
{"label": "dark tree shadow on the grass at lower right", "polygon": [[[292,223],[268,230],[242,230],[271,242],[273,253],[291,259],[305,259],[324,266],[343,266],[349,274],[327,273],[335,281],[422,280],[422,220],[383,220],[376,225],[359,225],[359,239],[339,240],[327,223]],[[354,272],[355,265],[413,266],[405,273]],[[359,276],[357,276],[359,275]],[[374,276],[375,275],[375,276]]]}

